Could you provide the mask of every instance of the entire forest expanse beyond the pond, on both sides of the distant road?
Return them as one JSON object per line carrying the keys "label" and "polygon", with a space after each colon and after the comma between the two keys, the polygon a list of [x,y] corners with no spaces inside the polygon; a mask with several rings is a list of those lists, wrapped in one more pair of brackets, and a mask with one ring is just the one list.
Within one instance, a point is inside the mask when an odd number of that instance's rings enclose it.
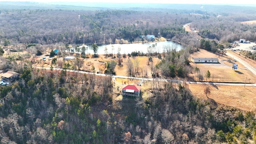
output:
{"label": "entire forest expanse beyond the pond, on both sides of the distant road", "polygon": [[[230,7],[230,8],[234,8]],[[238,7],[241,8],[242,6]],[[246,7],[245,7],[246,8]],[[141,10],[62,10],[62,9],[2,9],[0,38],[18,43],[110,44],[116,39],[129,42],[141,40],[140,35],[153,34],[178,40],[191,46],[184,24],[210,39],[232,42],[240,38],[255,40],[255,25],[240,24],[254,20],[250,12],[225,13],[175,11],[170,9]],[[148,10],[148,9],[146,9]],[[248,8],[250,10],[250,7]],[[198,46],[193,44],[192,46]]]}

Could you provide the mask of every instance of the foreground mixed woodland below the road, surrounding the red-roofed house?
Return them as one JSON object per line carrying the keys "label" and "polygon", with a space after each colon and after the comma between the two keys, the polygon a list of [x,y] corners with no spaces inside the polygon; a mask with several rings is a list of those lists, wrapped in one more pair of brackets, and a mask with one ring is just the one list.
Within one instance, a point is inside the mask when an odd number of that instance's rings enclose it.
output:
{"label": "foreground mixed woodland below the road, surrounding the red-roofed house", "polygon": [[254,112],[200,100],[186,85],[116,101],[112,79],[24,68],[0,87],[2,144],[212,144],[256,142]]}

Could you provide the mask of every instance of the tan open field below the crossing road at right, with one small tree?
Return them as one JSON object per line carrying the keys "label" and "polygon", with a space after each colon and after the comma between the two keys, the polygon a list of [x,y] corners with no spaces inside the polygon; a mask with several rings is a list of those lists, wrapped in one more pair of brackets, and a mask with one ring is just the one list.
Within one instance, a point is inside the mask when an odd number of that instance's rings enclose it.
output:
{"label": "tan open field below the crossing road at right, with one small tree", "polygon": [[256,88],[243,86],[209,86],[208,98],[204,94],[203,84],[188,84],[194,96],[202,99],[212,99],[219,104],[232,106],[245,111],[256,110]]}

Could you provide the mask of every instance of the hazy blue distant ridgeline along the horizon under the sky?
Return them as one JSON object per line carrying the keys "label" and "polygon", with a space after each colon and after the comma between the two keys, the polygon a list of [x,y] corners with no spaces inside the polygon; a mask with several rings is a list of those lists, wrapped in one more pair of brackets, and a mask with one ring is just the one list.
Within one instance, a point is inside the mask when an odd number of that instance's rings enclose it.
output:
{"label": "hazy blue distant ridgeline along the horizon under the sky", "polygon": [[[185,13],[205,14],[205,12],[254,12],[254,4],[156,4],[156,3],[95,3],[95,2],[0,2],[1,9],[63,9],[63,10],[86,10],[84,7],[93,7],[90,10],[126,9],[126,10],[150,10],[162,11],[165,9],[182,10]],[[150,8],[156,8],[154,10]]]}

